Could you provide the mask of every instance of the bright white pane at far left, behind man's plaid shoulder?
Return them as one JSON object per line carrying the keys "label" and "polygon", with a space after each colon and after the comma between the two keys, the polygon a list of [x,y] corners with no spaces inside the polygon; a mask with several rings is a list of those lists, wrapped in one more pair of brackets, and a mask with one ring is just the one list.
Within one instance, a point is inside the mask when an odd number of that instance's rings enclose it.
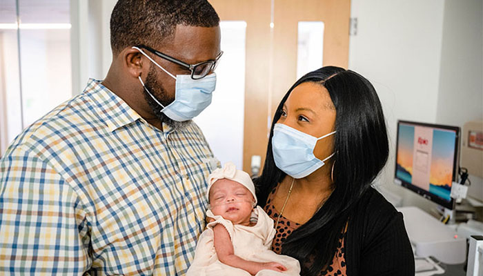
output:
{"label": "bright white pane at far left, behind man's plaid shoulder", "polygon": [[[20,31],[24,127],[71,97],[69,37],[70,30]],[[15,117],[10,117],[10,124]]]}

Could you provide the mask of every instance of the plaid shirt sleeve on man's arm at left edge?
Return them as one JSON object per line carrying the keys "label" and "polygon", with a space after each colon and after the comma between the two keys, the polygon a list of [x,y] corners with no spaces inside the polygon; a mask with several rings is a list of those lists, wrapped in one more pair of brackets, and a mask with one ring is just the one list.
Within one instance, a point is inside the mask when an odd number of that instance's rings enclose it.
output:
{"label": "plaid shirt sleeve on man's arm at left edge", "polygon": [[79,274],[90,264],[79,196],[21,146],[0,159],[0,274]]}

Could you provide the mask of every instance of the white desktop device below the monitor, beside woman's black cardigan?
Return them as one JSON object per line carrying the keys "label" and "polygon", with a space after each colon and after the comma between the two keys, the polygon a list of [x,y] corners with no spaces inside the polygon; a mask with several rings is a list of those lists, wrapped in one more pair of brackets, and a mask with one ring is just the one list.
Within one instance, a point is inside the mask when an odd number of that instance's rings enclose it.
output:
{"label": "white desktop device below the monitor, beside woman's black cardigan", "polygon": [[404,216],[416,256],[433,256],[445,264],[462,264],[466,260],[466,239],[455,230],[420,208],[408,206],[397,210]]}

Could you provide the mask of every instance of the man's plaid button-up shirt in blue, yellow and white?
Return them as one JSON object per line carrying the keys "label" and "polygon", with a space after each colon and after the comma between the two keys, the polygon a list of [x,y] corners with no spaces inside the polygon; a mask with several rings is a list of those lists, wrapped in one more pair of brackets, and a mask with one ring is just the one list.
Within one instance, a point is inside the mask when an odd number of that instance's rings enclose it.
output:
{"label": "man's plaid button-up shirt in blue, yellow and white", "polygon": [[91,79],[0,159],[0,275],[184,275],[214,160]]}

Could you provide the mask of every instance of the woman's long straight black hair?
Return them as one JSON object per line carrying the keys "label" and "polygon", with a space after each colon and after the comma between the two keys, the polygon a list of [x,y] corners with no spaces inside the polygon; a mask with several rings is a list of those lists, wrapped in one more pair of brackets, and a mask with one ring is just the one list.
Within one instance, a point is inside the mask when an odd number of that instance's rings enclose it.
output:
{"label": "woman's long straight black hair", "polygon": [[[333,181],[335,190],[313,217],[287,237],[282,253],[299,259],[302,275],[317,275],[328,267],[357,201],[384,168],[388,137],[381,103],[372,84],[351,70],[326,66],[309,72],[288,90],[273,117],[262,175],[255,179],[259,204],[284,179],[273,159],[273,126],[293,88],[304,82],[324,86],[335,106]],[[305,265],[304,265],[305,264]]]}

